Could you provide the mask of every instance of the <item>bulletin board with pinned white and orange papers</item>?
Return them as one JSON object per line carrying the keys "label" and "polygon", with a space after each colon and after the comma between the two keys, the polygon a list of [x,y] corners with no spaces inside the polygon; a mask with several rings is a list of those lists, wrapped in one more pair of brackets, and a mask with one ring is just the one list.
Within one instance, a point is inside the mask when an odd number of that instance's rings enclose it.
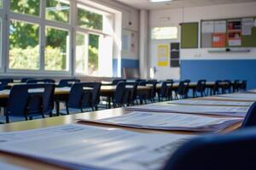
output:
{"label": "bulletin board with pinned white and orange papers", "polygon": [[201,20],[201,48],[256,47],[256,17]]}

